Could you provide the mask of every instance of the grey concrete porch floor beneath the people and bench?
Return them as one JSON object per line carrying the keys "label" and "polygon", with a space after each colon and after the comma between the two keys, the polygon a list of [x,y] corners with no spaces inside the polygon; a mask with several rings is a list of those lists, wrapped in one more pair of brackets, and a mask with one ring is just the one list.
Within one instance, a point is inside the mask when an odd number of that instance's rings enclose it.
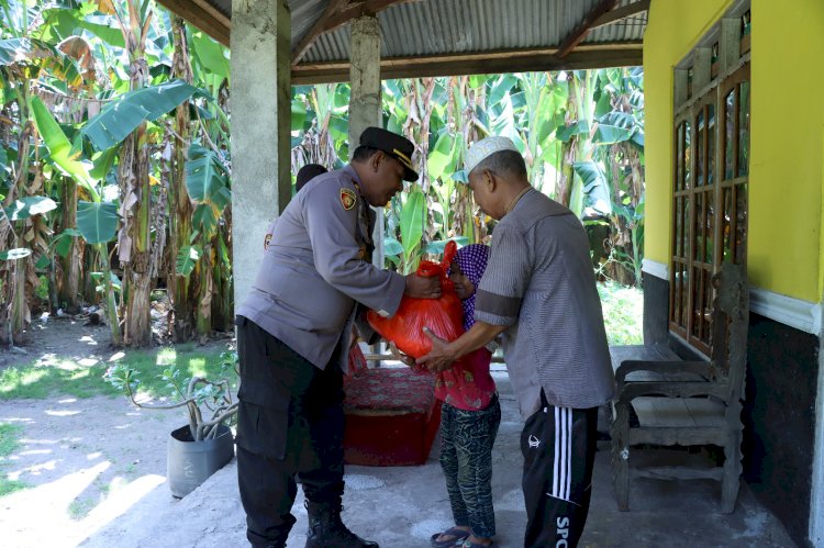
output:
{"label": "grey concrete porch floor beneath the people and bench", "polygon": [[[521,494],[521,417],[505,371],[494,371],[502,422],[493,450],[493,496],[500,547],[522,546],[525,511]],[[733,514],[719,512],[713,481],[638,479],[631,487],[631,511],[619,512],[613,496],[609,444],[600,446],[592,504],[580,546],[588,547],[793,547],[781,524],[742,485]],[[204,547],[245,545],[244,513],[232,461],[181,501],[158,489],[102,528],[82,546]],[[166,488],[166,485],[160,485]],[[147,506],[148,505],[148,506]],[[141,510],[143,506],[143,510]],[[347,467],[344,521],[381,547],[425,548],[435,532],[452,525],[449,502],[437,462],[437,439],[424,466]],[[148,510],[148,511],[147,511]],[[298,523],[288,545],[302,547],[307,514],[303,496],[293,508]]]}

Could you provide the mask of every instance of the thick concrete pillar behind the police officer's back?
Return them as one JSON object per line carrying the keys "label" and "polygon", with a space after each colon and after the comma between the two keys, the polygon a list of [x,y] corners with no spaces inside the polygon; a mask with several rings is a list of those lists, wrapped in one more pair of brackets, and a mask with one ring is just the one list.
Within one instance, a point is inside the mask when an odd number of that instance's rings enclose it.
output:
{"label": "thick concrete pillar behind the police officer's back", "polygon": [[266,228],[290,198],[290,40],[287,0],[232,2],[232,255],[236,306],[255,280]]}

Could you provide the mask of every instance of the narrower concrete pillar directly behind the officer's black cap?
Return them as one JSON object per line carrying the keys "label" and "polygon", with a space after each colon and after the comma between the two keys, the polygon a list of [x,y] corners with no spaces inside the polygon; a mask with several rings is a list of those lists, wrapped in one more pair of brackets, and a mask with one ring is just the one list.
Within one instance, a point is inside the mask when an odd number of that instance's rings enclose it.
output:
{"label": "narrower concrete pillar directly behind the officer's black cap", "polygon": [[[364,130],[383,127],[380,91],[380,23],[376,15],[364,15],[352,22],[349,44],[349,159]],[[383,268],[383,208],[375,208],[377,222],[372,239],[372,262]]]}

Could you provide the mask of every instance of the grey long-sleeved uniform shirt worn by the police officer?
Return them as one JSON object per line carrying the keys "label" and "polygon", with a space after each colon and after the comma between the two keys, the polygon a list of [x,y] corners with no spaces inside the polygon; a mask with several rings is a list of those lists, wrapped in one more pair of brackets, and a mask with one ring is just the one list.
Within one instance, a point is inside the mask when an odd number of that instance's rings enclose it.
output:
{"label": "grey long-sleeved uniform shirt worn by the police officer", "polygon": [[[402,276],[365,260],[371,210],[358,186],[357,174],[347,166],[315,177],[294,197],[275,225],[257,280],[237,311],[321,369],[341,334],[348,335],[344,327],[355,301],[392,315],[405,284]],[[350,197],[355,201],[347,210],[343,202]]]}

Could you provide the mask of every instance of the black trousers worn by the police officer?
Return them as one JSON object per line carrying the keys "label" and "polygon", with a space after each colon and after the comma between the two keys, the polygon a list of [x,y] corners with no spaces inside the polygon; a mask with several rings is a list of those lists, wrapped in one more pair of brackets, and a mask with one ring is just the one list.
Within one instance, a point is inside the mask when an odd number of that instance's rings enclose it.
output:
{"label": "black trousers worn by the police officer", "polygon": [[334,358],[321,370],[246,317],[235,324],[237,481],[246,537],[253,546],[278,546],[296,522],[296,477],[308,501],[341,504],[343,373]]}

